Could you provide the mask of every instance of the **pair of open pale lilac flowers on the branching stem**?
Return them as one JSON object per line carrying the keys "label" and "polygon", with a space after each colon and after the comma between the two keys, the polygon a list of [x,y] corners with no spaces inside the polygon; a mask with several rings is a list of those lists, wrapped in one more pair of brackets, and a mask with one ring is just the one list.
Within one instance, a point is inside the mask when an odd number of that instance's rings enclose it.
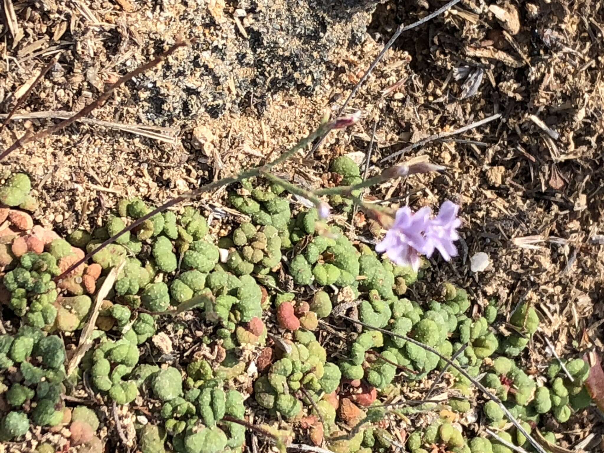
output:
{"label": "pair of open pale lilac flowers on the branching stem", "polygon": [[384,240],[376,245],[377,252],[385,252],[387,257],[400,266],[419,269],[420,255],[430,257],[437,249],[446,261],[457,255],[454,241],[459,239],[457,228],[461,221],[457,217],[458,205],[446,201],[439,214],[432,218],[428,207],[416,213],[408,206],[396,212],[394,225],[386,233]]}

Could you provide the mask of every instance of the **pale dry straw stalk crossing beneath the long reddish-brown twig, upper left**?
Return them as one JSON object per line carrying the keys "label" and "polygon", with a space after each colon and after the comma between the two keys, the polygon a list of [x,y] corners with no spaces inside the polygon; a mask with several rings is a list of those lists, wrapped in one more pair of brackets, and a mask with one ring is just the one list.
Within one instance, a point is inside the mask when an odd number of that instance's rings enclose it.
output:
{"label": "pale dry straw stalk crossing beneath the long reddish-brown twig, upper left", "polygon": [[[0,114],[0,118],[6,117],[5,123],[8,120],[31,120],[39,118],[59,118],[66,120],[72,117],[73,112],[66,111],[48,111],[48,112],[31,112],[27,114],[16,114],[10,118],[8,115]],[[142,137],[152,138],[153,140],[163,141],[169,144],[178,142],[178,131],[172,127],[145,126],[143,124],[120,124],[112,123],[111,121],[95,120],[95,118],[77,118],[77,123],[92,124],[93,126],[108,127],[111,129],[123,130],[124,132],[141,135]],[[0,128],[1,130],[1,128]]]}

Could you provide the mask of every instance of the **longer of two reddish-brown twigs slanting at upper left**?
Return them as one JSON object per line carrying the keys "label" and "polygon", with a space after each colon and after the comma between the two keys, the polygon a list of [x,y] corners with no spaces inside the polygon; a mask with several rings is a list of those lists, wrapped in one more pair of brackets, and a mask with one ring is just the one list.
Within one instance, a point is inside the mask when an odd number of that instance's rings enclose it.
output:
{"label": "longer of two reddish-brown twigs slanting at upper left", "polygon": [[19,149],[19,147],[24,146],[25,144],[30,143],[31,141],[40,140],[44,137],[48,137],[48,135],[51,135],[51,133],[55,133],[55,132],[57,132],[57,130],[64,129],[65,127],[75,123],[79,118],[85,117],[90,112],[92,112],[94,109],[97,109],[98,107],[100,107],[104,103],[104,101],[108,100],[109,96],[111,96],[111,94],[114,92],[114,90],[116,88],[118,88],[118,86],[123,85],[124,83],[128,82],[128,80],[132,79],[132,77],[136,77],[136,76],[138,76],[138,74],[141,74],[141,73],[147,71],[148,69],[153,68],[153,66],[158,65],[163,60],[165,60],[167,57],[169,57],[171,54],[173,54],[176,50],[178,50],[178,48],[184,47],[185,45],[187,45],[187,43],[177,42],[175,45],[170,47],[167,51],[159,54],[155,59],[151,60],[150,62],[145,63],[143,66],[140,66],[137,69],[134,69],[134,71],[132,71],[132,72],[128,72],[125,76],[120,77],[120,79],[117,82],[115,82],[113,85],[111,85],[96,100],[92,101],[90,104],[88,104],[85,108],[83,108],[82,110],[77,112],[71,118],[61,121],[60,123],[57,123],[54,126],[51,126],[46,130],[42,130],[42,132],[36,133],[35,135],[28,135],[26,133],[24,137],[21,137],[19,140],[16,140],[10,147],[8,147],[8,149],[4,150],[4,152],[2,154],[0,154],[0,161],[2,159],[4,159],[6,156],[8,156],[14,150]]}

